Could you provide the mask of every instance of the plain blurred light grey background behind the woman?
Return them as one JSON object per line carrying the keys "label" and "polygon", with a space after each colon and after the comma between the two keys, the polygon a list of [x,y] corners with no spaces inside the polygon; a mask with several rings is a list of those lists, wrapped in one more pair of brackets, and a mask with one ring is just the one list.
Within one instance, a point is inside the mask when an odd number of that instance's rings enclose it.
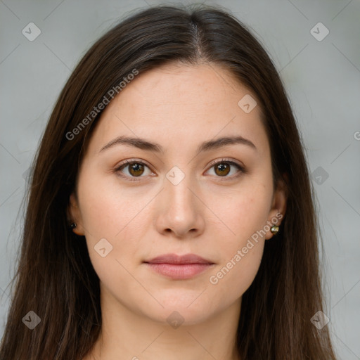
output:
{"label": "plain blurred light grey background behind the woman", "polygon": [[[0,1],[0,335],[23,226],[27,169],[56,98],[79,58],[101,34],[129,11],[155,4],[165,3]],[[360,359],[360,2],[205,4],[220,4],[248,25],[281,73],[314,173],[324,241],[327,326],[340,359]],[[22,33],[30,22],[41,30],[34,41]],[[310,32],[319,22],[329,30],[322,41]]]}

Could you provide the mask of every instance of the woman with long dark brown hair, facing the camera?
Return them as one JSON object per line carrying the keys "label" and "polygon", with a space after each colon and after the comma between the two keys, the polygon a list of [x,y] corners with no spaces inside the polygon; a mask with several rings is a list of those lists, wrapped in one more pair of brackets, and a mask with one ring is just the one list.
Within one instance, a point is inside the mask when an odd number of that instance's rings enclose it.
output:
{"label": "woman with long dark brown hair, facing the camera", "polygon": [[300,134],[226,11],[103,35],[33,169],[1,359],[335,359]]}

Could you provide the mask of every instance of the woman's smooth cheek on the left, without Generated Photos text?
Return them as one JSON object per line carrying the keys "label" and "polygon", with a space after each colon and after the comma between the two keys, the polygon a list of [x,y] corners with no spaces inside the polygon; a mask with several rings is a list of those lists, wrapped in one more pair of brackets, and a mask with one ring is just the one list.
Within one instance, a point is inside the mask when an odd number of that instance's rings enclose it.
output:
{"label": "woman's smooth cheek on the left, without Generated Photos text", "polygon": [[149,216],[148,197],[139,195],[139,191],[134,196],[134,192],[96,176],[87,176],[89,181],[84,180],[84,174],[82,179],[79,203],[91,263],[105,283],[114,276],[126,278],[129,274],[125,269],[139,258],[136,254]]}

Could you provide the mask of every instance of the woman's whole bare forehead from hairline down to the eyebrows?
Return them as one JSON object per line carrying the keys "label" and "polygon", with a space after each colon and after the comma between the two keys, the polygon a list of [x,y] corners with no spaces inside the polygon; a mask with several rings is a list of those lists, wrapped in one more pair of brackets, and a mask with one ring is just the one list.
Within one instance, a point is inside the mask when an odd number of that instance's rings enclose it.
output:
{"label": "woman's whole bare forehead from hairline down to the eyebrows", "polygon": [[256,100],[218,65],[163,65],[137,75],[110,101],[94,141],[129,135],[156,139],[167,148],[236,134],[262,150],[267,140],[261,110],[256,105],[245,113],[238,105],[244,96]]}

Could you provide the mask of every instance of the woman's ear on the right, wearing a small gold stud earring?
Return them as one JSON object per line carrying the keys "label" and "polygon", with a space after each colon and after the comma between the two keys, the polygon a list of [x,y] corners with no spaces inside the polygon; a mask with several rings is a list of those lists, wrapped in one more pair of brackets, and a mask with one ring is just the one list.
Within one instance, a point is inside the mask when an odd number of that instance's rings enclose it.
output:
{"label": "woman's ear on the right, wearing a small gold stud earring", "polygon": [[[273,201],[271,204],[271,210],[269,212],[268,224],[271,226],[280,226],[281,221],[286,212],[286,201],[288,200],[288,174],[284,173],[283,178],[278,179],[276,190],[274,191]],[[269,240],[274,236],[271,231],[267,231],[266,240]]]}

